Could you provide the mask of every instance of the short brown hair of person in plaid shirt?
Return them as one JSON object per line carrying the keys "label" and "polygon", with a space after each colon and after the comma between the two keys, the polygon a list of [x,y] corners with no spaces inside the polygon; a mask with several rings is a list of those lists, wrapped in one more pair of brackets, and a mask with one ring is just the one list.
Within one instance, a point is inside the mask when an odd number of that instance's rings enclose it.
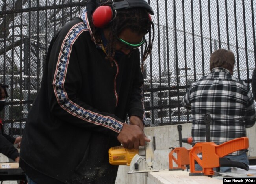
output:
{"label": "short brown hair of person in plaid shirt", "polygon": [[210,71],[215,67],[223,67],[233,71],[235,65],[235,55],[231,50],[215,50],[210,57]]}

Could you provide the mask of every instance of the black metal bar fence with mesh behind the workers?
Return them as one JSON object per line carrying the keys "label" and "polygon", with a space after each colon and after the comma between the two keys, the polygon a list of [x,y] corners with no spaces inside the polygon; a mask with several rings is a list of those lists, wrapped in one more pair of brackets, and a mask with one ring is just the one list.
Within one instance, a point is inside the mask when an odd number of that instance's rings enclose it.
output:
{"label": "black metal bar fence with mesh behind the workers", "polygon": [[[104,0],[102,0],[104,1]],[[77,17],[87,0],[2,0],[0,83],[9,85],[0,113],[4,130],[22,135],[40,88],[53,35]],[[155,40],[145,62],[146,125],[191,121],[181,105],[189,85],[209,72],[210,54],[226,48],[236,56],[234,76],[250,84],[256,64],[255,0],[148,0]]]}

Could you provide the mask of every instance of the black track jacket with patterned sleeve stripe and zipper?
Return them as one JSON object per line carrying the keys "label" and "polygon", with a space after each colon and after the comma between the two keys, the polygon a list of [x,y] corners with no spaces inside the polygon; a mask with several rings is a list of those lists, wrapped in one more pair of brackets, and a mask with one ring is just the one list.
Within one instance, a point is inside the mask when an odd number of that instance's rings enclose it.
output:
{"label": "black track jacket with patterned sleeve stripe and zipper", "polygon": [[120,145],[126,115],[144,120],[139,50],[113,66],[105,57],[91,39],[86,11],[52,39],[20,150],[20,166],[35,182],[96,180],[97,169],[109,164],[108,149]]}

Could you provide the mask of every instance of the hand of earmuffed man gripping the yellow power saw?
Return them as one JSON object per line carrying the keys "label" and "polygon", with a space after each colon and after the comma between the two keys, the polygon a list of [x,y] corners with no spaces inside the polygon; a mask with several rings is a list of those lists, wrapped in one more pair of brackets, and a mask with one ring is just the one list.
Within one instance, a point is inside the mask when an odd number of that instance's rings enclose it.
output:
{"label": "hand of earmuffed man gripping the yellow power saw", "polygon": [[128,149],[139,149],[139,146],[145,145],[145,141],[150,142],[150,139],[145,136],[139,126],[126,123],[117,136],[117,140],[121,142],[124,148]]}

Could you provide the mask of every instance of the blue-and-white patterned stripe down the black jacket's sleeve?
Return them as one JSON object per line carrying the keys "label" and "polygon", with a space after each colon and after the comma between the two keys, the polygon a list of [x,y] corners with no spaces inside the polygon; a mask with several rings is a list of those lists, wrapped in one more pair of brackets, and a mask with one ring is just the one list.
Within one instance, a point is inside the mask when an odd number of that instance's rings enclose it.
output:
{"label": "blue-and-white patterned stripe down the black jacket's sleeve", "polygon": [[58,62],[56,65],[56,71],[54,74],[53,87],[54,93],[57,101],[61,108],[63,108],[68,113],[76,116],[82,120],[94,123],[96,125],[101,125],[107,127],[115,132],[120,132],[123,123],[115,120],[109,116],[102,116],[100,114],[91,112],[89,110],[83,109],[76,103],[69,100],[67,93],[65,91],[64,82],[67,74],[67,68],[69,64],[70,53],[72,50],[72,45],[78,36],[83,32],[87,31],[87,27],[83,22],[74,25],[67,33],[59,53]]}

